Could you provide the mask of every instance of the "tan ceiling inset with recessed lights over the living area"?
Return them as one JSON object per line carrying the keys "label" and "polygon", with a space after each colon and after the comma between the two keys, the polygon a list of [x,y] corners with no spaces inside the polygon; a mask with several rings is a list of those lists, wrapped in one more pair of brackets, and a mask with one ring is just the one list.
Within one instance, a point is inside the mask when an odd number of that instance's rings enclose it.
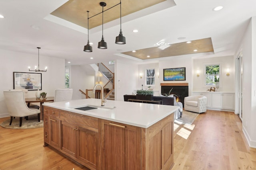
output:
{"label": "tan ceiling inset with recessed lights over the living area", "polygon": [[[195,49],[197,51],[194,51]],[[122,54],[145,60],[206,52],[214,52],[211,38],[198,39],[192,41],[191,43],[182,42],[176,44],[161,45],[158,47],[151,47],[146,49],[138,49],[136,50],[136,52],[128,51]],[[150,57],[147,57],[148,55]]]}

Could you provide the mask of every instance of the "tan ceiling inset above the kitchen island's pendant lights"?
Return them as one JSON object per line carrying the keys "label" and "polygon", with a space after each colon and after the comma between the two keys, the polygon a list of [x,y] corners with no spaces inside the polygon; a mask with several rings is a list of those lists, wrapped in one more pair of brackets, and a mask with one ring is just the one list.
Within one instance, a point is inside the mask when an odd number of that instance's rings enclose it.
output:
{"label": "tan ceiling inset above the kitchen island's pendant lights", "polygon": [[[164,1],[166,0],[123,0],[122,17]],[[106,10],[120,3],[120,0],[69,0],[52,12],[51,15],[62,18],[66,21],[70,21],[87,29],[86,11],[90,11],[89,18],[102,12],[100,2],[105,2],[107,4],[104,7],[104,10]],[[120,18],[120,5],[104,12],[104,23],[116,20],[118,18]],[[99,25],[102,25],[102,14],[89,19],[89,29]]]}

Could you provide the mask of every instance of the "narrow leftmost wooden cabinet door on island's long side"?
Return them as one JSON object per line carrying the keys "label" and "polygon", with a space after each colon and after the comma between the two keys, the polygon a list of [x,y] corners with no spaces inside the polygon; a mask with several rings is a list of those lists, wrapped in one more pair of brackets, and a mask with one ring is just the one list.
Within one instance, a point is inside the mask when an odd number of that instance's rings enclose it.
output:
{"label": "narrow leftmost wooden cabinet door on island's long side", "polygon": [[60,148],[60,121],[56,117],[49,116],[50,145]]}

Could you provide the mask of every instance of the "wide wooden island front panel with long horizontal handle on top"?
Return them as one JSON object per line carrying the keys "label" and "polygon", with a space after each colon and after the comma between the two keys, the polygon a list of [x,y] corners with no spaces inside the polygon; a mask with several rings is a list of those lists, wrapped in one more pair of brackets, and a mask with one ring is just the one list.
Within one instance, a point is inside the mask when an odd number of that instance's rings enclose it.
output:
{"label": "wide wooden island front panel with long horizontal handle on top", "polygon": [[141,169],[141,128],[104,120],[104,170]]}

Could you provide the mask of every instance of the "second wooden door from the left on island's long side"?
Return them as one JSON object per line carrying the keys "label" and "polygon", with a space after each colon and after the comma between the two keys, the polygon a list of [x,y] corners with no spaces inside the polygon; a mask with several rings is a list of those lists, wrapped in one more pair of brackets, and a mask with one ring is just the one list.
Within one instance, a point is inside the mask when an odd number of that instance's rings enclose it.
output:
{"label": "second wooden door from the left on island's long side", "polygon": [[65,121],[61,122],[61,129],[61,149],[67,154],[76,158],[76,136],[78,129],[75,125]]}

